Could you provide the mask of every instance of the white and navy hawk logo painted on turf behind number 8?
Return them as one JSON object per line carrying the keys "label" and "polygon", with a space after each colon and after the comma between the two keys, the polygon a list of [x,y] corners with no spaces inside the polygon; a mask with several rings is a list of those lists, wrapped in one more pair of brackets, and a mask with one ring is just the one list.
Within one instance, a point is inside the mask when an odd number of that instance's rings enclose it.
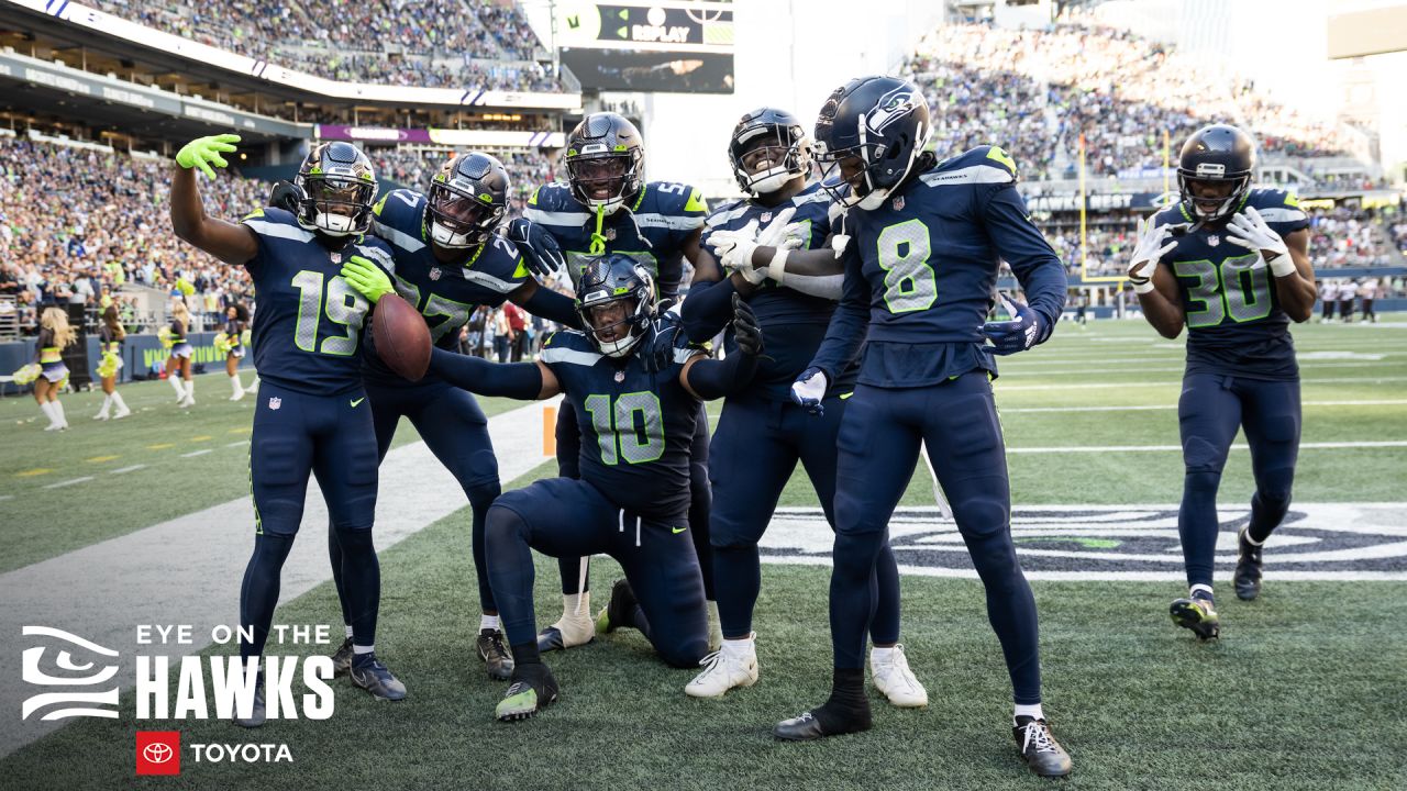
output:
{"label": "white and navy hawk logo painted on turf behind number 8", "polygon": [[[1230,574],[1247,505],[1220,505],[1217,567]],[[778,508],[761,540],[774,563],[829,564],[832,532],[820,508]],[[1033,580],[1183,580],[1176,505],[1026,505],[1012,538]],[[967,545],[937,508],[899,508],[889,519],[899,571],[976,577]],[[1266,542],[1278,580],[1407,580],[1407,511],[1400,504],[1294,504]]]}

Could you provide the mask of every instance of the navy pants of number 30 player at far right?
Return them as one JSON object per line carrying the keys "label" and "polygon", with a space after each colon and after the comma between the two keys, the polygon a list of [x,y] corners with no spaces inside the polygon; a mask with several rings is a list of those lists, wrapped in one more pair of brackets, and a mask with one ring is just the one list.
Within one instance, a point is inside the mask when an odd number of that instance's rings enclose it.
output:
{"label": "navy pants of number 30 player at far right", "polygon": [[1189,586],[1210,586],[1216,563],[1217,488],[1238,428],[1251,446],[1251,538],[1263,542],[1290,508],[1300,449],[1300,383],[1189,373],[1178,400],[1186,477],[1178,535]]}

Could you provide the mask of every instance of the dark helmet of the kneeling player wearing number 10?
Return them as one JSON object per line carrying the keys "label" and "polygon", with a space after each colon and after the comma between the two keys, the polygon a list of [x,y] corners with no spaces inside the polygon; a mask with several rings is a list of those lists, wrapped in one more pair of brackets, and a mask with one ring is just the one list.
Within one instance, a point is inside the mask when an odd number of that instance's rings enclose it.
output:
{"label": "dark helmet of the kneeling player wearing number 10", "polygon": [[577,312],[602,355],[625,357],[654,321],[654,280],[628,255],[591,259],[577,281]]}

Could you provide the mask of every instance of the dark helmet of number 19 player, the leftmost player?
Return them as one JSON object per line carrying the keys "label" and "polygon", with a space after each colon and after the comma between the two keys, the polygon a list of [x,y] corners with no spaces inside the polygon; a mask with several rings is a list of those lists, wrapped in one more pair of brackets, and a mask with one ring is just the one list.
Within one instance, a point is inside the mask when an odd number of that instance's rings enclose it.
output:
{"label": "dark helmet of number 19 player, the leftmost player", "polygon": [[376,203],[376,172],[362,149],[349,142],[324,142],[303,159],[294,186],[298,224],[328,236],[366,234]]}

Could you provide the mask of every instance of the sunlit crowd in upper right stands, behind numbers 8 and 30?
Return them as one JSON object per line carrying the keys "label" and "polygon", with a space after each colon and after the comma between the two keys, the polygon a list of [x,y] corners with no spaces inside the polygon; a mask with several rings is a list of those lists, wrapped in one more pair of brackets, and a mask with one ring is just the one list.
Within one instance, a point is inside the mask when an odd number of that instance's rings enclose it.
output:
{"label": "sunlit crowd in upper right stands, behind numbers 8 and 30", "polygon": [[1050,30],[953,24],[929,34],[906,72],[936,111],[938,151],[1000,144],[1023,179],[1062,179],[1075,176],[1083,135],[1088,173],[1119,176],[1162,166],[1162,129],[1180,141],[1227,118],[1249,125],[1268,153],[1349,148],[1339,131],[1266,100],[1225,68],[1072,18]]}

